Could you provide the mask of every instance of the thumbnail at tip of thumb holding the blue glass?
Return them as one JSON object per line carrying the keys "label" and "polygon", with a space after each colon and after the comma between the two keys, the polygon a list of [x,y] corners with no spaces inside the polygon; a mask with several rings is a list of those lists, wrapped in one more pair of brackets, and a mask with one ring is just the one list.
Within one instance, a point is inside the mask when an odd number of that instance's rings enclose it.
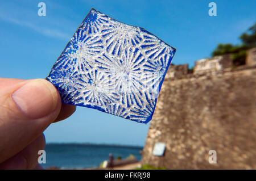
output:
{"label": "thumbnail at tip of thumb holding the blue glass", "polygon": [[31,119],[37,119],[55,110],[58,95],[50,82],[34,79],[16,90],[12,97],[20,111]]}

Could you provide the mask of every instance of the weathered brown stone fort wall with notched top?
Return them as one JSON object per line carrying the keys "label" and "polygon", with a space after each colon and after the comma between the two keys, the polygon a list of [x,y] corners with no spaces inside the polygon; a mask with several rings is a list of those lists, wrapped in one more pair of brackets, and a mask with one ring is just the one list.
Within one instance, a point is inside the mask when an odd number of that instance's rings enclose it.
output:
{"label": "weathered brown stone fort wall with notched top", "polygon": [[[246,65],[230,55],[171,65],[148,129],[142,164],[167,169],[256,169],[256,48]],[[163,156],[152,154],[166,143]],[[216,150],[217,163],[209,163]]]}

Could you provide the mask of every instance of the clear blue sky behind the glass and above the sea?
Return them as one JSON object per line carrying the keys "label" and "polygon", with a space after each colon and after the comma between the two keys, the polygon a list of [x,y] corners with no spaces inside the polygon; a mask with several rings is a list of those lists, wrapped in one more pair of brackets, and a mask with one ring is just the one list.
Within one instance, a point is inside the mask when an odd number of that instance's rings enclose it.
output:
{"label": "clear blue sky behind the glass and above the sea", "polygon": [[[38,3],[46,3],[46,16]],[[210,2],[217,16],[209,16]],[[210,57],[218,43],[238,44],[256,22],[256,1],[2,1],[0,6],[0,77],[46,78],[52,65],[89,10],[145,28],[176,48],[173,64]],[[143,146],[149,124],[140,124],[90,108],[77,107],[44,132],[47,143],[81,142]]]}

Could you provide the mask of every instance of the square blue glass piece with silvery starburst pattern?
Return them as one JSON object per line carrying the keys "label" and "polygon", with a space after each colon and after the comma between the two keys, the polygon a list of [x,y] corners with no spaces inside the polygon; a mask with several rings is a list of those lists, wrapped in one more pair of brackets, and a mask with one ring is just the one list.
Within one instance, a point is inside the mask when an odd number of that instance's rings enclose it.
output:
{"label": "square blue glass piece with silvery starburst pattern", "polygon": [[63,103],[148,123],[175,52],[143,28],[92,9],[46,79]]}

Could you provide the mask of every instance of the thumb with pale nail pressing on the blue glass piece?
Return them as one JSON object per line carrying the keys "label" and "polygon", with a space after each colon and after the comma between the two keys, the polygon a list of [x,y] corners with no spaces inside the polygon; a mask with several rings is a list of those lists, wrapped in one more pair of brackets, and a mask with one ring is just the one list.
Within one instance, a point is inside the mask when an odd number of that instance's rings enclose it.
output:
{"label": "thumb with pale nail pressing on the blue glass piece", "polygon": [[40,136],[60,108],[59,93],[45,79],[0,79],[0,163]]}

